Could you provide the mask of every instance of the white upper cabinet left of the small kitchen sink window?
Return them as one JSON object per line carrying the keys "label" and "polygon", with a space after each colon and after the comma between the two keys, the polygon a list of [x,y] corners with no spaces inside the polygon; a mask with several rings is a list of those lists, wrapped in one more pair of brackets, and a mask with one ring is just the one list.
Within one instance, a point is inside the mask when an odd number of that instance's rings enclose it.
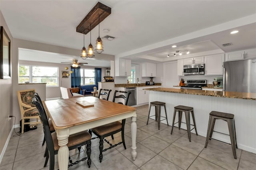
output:
{"label": "white upper cabinet left of the small kitchen sink window", "polygon": [[119,62],[115,61],[115,73],[116,76],[130,76],[131,60],[119,58]]}

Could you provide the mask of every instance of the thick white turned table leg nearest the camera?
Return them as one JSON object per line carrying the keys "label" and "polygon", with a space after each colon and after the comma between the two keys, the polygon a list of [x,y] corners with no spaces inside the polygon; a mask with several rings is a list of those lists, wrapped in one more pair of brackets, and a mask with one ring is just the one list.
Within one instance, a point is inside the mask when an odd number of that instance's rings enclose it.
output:
{"label": "thick white turned table leg nearest the camera", "polygon": [[[61,133],[61,132],[60,132]],[[68,170],[68,156],[69,156],[69,150],[68,150],[68,135],[58,135],[58,144],[60,146],[58,150],[58,163],[59,163],[59,169],[60,170]]]}

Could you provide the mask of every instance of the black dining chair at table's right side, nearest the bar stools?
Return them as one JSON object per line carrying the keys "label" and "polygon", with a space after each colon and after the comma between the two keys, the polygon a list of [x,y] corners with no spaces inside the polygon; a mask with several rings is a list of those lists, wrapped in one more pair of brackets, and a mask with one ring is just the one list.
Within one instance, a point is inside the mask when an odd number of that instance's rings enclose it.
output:
{"label": "black dining chair at table's right side, nearest the bar stools", "polygon": [[[122,93],[122,94],[117,94],[117,93]],[[116,98],[122,98],[124,100],[124,103],[122,103],[122,102],[118,102],[118,103],[120,103],[122,105],[127,105],[130,94],[131,94],[131,92],[117,91],[116,90],[115,93],[114,93],[113,102],[116,101]],[[103,125],[103,126],[96,127],[96,128],[93,128],[93,129],[89,130],[89,133],[91,135],[92,135],[92,132],[93,132],[94,134],[96,134],[96,136],[98,136],[100,138],[100,146],[99,146],[99,149],[100,149],[100,156],[99,156],[100,162],[102,162],[102,158],[103,158],[103,154],[102,154],[102,152],[103,152],[103,140],[104,140],[105,137],[111,136],[112,139],[114,139],[113,135],[121,131],[122,143],[124,145],[124,149],[126,149],[125,142],[124,142],[124,125],[125,125],[125,120],[126,119],[123,119],[122,123],[120,121],[116,121],[116,122],[109,123],[107,125]]]}

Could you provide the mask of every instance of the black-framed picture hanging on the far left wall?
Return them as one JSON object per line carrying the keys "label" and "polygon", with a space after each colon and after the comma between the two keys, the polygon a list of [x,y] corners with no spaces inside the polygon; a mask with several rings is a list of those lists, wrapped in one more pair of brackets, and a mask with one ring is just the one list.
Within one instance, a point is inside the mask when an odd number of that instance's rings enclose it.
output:
{"label": "black-framed picture hanging on the far left wall", "polygon": [[0,27],[0,79],[11,78],[11,40],[4,30]]}

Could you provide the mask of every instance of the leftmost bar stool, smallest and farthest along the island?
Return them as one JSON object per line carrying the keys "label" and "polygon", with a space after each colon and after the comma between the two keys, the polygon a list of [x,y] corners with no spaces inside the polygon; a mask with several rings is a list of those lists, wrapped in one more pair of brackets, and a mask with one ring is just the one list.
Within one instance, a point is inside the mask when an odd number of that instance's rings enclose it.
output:
{"label": "leftmost bar stool, smallest and farthest along the island", "polygon": [[[169,126],[168,124],[168,120],[167,120],[167,114],[166,114],[166,106],[165,106],[165,103],[164,102],[160,102],[160,101],[153,101],[153,102],[150,102],[150,107],[149,107],[149,111],[148,111],[148,119],[152,116],[149,116],[150,115],[150,110],[151,110],[151,107],[152,106],[155,106],[155,115],[153,116],[156,116],[156,121],[158,123],[158,130],[160,130],[160,121],[163,121],[163,120],[160,120],[160,117],[163,117],[161,116],[161,106],[164,106],[164,110],[165,110],[165,118],[166,118],[166,121],[167,121],[167,125]],[[148,121],[147,121],[147,125],[148,125]]]}

